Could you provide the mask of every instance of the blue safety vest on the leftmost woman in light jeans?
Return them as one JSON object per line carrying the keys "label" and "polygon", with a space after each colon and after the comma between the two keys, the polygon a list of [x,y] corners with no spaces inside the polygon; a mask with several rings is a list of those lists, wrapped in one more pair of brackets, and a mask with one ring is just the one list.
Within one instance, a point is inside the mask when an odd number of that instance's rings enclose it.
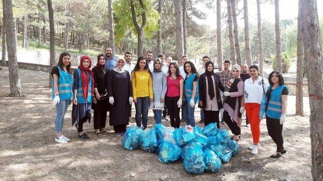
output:
{"label": "blue safety vest on the leftmost woman in light jeans", "polygon": [[[57,65],[60,71],[60,77],[58,82],[59,97],[60,100],[73,100],[73,76],[71,73],[68,73],[61,69],[61,66]],[[51,80],[51,99],[55,98],[54,90],[54,79]]]}

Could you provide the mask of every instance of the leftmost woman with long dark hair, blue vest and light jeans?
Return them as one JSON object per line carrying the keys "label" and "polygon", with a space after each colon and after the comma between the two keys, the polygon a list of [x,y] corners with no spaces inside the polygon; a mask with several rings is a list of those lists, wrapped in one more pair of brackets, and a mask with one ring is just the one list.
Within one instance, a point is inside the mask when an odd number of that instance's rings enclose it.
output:
{"label": "leftmost woman with long dark hair, blue vest and light jeans", "polygon": [[64,116],[73,100],[73,76],[71,74],[70,58],[71,55],[69,53],[61,53],[59,63],[51,70],[51,99],[56,107],[55,141],[58,143],[70,141],[69,138],[63,135]]}

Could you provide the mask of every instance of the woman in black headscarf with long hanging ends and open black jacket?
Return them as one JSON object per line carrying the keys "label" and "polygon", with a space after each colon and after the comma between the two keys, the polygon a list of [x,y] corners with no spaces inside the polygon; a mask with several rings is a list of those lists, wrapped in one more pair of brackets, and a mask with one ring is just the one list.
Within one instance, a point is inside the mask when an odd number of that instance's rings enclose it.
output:
{"label": "woman in black headscarf with long hanging ends and open black jacket", "polygon": [[222,109],[220,90],[224,92],[219,74],[214,73],[214,64],[211,61],[205,63],[205,73],[199,77],[199,107],[203,108],[204,126],[217,123],[220,129],[219,113]]}

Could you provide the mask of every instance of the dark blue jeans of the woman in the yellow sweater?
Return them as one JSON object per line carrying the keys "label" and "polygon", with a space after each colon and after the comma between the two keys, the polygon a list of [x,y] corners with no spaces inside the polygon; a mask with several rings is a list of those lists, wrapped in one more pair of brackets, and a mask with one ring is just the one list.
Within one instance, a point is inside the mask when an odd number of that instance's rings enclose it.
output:
{"label": "dark blue jeans of the woman in the yellow sweater", "polygon": [[147,128],[148,121],[148,108],[149,108],[149,97],[137,98],[136,107],[136,123],[138,127],[141,127],[141,121],[143,129]]}

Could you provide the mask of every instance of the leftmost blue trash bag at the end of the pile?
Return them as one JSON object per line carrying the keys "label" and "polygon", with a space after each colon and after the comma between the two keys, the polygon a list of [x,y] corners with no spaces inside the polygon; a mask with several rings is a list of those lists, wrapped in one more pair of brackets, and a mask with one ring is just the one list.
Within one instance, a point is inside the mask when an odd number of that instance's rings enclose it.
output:
{"label": "leftmost blue trash bag at the end of the pile", "polygon": [[121,144],[124,148],[129,150],[134,150],[139,146],[139,137],[142,132],[142,128],[139,128],[136,125],[130,126],[123,138],[121,139]]}

